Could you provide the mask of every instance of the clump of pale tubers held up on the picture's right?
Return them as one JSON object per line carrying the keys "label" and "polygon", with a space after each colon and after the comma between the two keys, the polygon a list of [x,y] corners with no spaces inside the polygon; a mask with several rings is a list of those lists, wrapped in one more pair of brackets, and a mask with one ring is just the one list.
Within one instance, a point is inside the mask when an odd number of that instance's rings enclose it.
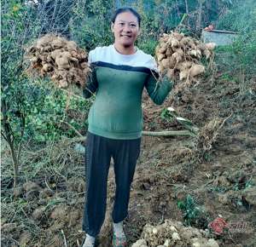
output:
{"label": "clump of pale tubers held up on the picture's right", "polygon": [[191,83],[205,72],[201,59],[212,58],[215,43],[201,43],[183,33],[164,33],[155,55],[161,75],[166,75],[175,82]]}

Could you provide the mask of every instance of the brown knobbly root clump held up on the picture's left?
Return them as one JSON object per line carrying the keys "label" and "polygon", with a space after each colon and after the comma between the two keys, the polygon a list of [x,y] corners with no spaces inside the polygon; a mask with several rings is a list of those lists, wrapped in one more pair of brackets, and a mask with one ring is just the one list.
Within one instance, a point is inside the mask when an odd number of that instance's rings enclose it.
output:
{"label": "brown knobbly root clump held up on the picture's left", "polygon": [[90,74],[88,55],[74,41],[54,34],[46,34],[26,49],[29,74],[49,76],[59,88],[74,83],[84,87]]}

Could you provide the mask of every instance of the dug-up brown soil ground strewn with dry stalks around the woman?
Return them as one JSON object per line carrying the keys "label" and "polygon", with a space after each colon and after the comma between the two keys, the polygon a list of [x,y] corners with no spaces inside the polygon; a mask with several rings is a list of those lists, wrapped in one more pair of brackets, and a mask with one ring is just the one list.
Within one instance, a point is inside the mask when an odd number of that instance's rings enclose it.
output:
{"label": "dug-up brown soil ground strewn with dry stalks around the woman", "polygon": [[[214,77],[170,95],[164,106],[154,106],[144,95],[144,129],[183,129],[175,120],[160,118],[162,109],[172,106],[201,132],[198,138],[143,136],[125,220],[128,246],[141,238],[147,223],[156,226],[170,219],[205,230],[218,215],[233,226],[220,235],[211,233],[219,246],[255,246],[255,85],[255,78],[245,83],[227,80],[216,72]],[[217,126],[212,132],[211,121]],[[22,160],[29,163],[22,164],[22,182],[15,191],[10,170],[3,169],[10,164],[9,151],[3,149],[2,160],[7,164],[2,166],[1,181],[3,246],[81,244],[84,157],[73,146],[74,143],[61,143],[53,146],[50,153],[44,148],[29,151],[26,146]],[[33,164],[33,169],[28,164]],[[188,196],[197,206],[196,215],[188,216],[178,206]],[[100,246],[111,246],[113,199],[111,166]],[[192,245],[181,242],[173,246]]]}

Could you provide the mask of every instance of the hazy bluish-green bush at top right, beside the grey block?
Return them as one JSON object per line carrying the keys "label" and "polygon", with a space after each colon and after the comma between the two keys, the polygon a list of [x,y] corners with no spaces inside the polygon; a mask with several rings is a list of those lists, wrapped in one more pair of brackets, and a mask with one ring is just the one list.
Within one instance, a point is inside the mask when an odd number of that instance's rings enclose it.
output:
{"label": "hazy bluish-green bush at top right, beside the grey block", "polygon": [[235,31],[240,34],[235,43],[217,49],[230,72],[246,73],[252,78],[256,73],[256,2],[236,1],[232,8],[218,20],[218,29]]}

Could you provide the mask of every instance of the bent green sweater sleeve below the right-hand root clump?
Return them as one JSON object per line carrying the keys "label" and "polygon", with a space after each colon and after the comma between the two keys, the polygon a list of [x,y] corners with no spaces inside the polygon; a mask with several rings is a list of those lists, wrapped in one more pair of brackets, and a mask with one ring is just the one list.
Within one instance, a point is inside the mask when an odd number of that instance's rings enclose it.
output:
{"label": "bent green sweater sleeve below the right-hand root clump", "polygon": [[161,105],[172,90],[172,82],[166,77],[162,80],[158,80],[158,75],[151,72],[148,75],[145,87],[152,101],[154,101],[156,105]]}

